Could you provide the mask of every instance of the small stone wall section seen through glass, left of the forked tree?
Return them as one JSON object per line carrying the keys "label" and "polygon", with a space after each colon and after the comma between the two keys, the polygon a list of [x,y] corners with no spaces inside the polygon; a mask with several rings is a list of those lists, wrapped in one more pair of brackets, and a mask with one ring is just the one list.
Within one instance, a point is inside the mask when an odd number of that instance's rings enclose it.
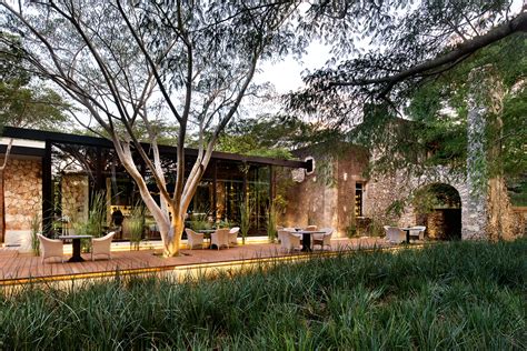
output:
{"label": "small stone wall section seen through glass, left of the forked tree", "polygon": [[89,181],[84,174],[63,174],[62,183],[62,215],[71,221],[84,221],[89,211]]}

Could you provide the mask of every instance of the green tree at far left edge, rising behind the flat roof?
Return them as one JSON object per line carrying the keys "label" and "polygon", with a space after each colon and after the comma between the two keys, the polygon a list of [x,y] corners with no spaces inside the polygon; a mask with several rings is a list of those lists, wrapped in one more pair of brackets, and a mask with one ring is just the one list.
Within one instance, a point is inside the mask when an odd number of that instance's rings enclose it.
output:
{"label": "green tree at far left edge, rising behind the flat roof", "polygon": [[[34,79],[22,67],[20,38],[0,33],[0,130],[4,126],[58,129],[68,121],[69,107],[62,98]],[[3,172],[13,140],[10,139],[0,166],[0,242],[6,235],[6,202]]]}

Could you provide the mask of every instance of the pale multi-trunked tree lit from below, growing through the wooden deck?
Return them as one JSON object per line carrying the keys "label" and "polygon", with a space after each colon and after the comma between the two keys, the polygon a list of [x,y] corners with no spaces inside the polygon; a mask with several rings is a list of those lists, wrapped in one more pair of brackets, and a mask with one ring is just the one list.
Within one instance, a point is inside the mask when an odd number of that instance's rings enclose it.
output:
{"label": "pale multi-trunked tree lit from below, growing through the wooden deck", "polygon": [[[258,62],[301,43],[288,23],[297,3],[78,0],[2,7],[9,14],[4,27],[24,34],[32,70],[103,128],[159,225],[163,254],[178,254],[187,208],[221,131],[252,91]],[[151,128],[158,116],[178,127],[173,193]],[[135,133],[139,121],[151,152]],[[199,151],[186,174],[181,160],[189,130],[198,136]],[[159,204],[132,151],[151,172]]]}

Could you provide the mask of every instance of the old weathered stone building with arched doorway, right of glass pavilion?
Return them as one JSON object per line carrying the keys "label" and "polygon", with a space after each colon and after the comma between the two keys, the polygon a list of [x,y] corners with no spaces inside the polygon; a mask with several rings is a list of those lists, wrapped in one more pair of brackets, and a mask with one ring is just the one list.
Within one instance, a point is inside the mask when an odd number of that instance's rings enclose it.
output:
{"label": "old weathered stone building with arched doorway, right of glass pavilion", "polygon": [[[401,170],[368,178],[367,150],[354,146],[334,146],[332,150],[339,151],[300,152],[301,157],[312,156],[317,167],[285,187],[287,208],[279,224],[332,227],[339,237],[382,235],[387,224],[419,224],[427,227],[429,239],[441,240],[511,239],[525,232],[523,212],[508,202],[503,181],[489,181],[489,195],[474,202],[466,174],[437,167],[419,176]],[[427,200],[424,197],[432,197],[427,209],[420,203]],[[496,238],[493,208],[500,211]]]}

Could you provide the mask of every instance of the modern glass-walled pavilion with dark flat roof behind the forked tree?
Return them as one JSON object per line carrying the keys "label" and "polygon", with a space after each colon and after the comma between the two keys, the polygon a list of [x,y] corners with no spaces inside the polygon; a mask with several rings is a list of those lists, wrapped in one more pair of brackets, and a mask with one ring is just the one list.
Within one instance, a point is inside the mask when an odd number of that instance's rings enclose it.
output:
{"label": "modern glass-walled pavilion with dark flat roof behind the forked tree", "polygon": [[[58,213],[62,210],[57,203],[62,201],[58,193],[66,197],[66,193],[60,189],[62,187],[64,190],[64,179],[66,177],[71,178],[71,174],[83,177],[90,190],[89,197],[93,191],[106,190],[109,192],[108,201],[113,201],[110,205],[126,208],[126,205],[132,204],[129,202],[132,197],[126,192],[135,191],[133,182],[120,164],[110,140],[12,127],[6,127],[2,137],[33,141],[32,146],[13,146],[11,154],[13,157],[40,158],[41,160],[42,228],[51,228],[53,219],[63,214]],[[150,146],[148,143],[143,143],[142,147],[149,152]],[[177,149],[170,146],[159,146],[159,150],[167,174],[173,174],[178,161]],[[6,146],[2,144],[0,154],[4,152]],[[189,163],[187,170],[190,169],[197,153],[196,149],[186,149],[186,162]],[[150,177],[148,168],[139,157],[136,161],[141,173],[148,180]],[[268,207],[270,199],[275,198],[277,167],[310,171],[312,162],[213,152],[202,177],[201,188],[195,195],[193,202],[197,202],[198,198],[201,202],[191,204],[191,210],[199,210],[198,205],[208,205],[209,213],[215,219],[236,221],[236,215],[239,213],[233,213],[236,210],[232,208],[232,203],[246,199],[249,192],[259,197],[264,207]],[[170,179],[168,179],[168,183],[170,183]],[[152,182],[152,193],[156,193],[156,190],[157,187]],[[88,205],[84,205],[82,209],[86,213],[87,208]],[[78,211],[80,212],[80,210]]]}

